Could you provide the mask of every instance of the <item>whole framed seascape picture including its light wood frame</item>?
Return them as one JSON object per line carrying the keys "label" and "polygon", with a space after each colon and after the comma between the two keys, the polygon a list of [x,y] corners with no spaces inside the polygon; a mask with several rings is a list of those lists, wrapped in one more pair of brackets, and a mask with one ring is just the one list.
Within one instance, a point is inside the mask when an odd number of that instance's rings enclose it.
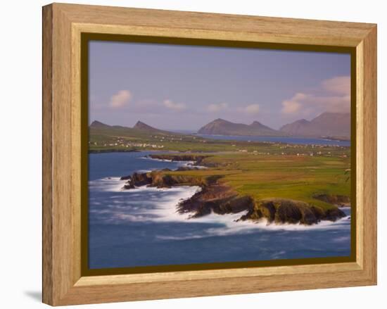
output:
{"label": "whole framed seascape picture including its light wood frame", "polygon": [[376,25],[43,8],[43,301],[376,284]]}

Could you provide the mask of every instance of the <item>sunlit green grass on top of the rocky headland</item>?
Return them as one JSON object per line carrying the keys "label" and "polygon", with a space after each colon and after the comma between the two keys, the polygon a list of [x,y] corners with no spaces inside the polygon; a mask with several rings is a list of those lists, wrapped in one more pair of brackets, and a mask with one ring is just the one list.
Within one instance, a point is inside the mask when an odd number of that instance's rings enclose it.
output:
{"label": "sunlit green grass on top of the rocky headland", "polygon": [[215,154],[205,158],[204,162],[218,163],[221,166],[172,174],[197,177],[222,175],[221,182],[228,184],[241,195],[253,196],[255,201],[264,198],[286,198],[327,209],[332,205],[313,196],[350,196],[349,158],[228,153]]}

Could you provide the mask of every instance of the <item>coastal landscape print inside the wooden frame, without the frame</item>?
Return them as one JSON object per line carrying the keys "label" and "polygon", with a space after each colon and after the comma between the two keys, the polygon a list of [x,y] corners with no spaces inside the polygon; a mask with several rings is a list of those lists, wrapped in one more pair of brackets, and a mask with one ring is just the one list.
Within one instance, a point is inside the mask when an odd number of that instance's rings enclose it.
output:
{"label": "coastal landscape print inside the wooden frame, without the frame", "polygon": [[88,49],[90,269],[350,256],[349,53]]}

